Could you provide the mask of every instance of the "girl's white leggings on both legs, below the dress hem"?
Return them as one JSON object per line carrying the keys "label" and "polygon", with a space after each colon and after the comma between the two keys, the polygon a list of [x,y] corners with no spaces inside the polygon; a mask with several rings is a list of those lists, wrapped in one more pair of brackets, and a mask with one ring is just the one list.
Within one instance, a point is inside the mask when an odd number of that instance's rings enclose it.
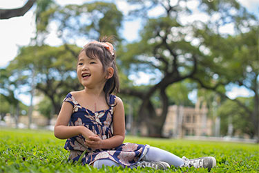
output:
{"label": "girl's white leggings on both legs, below the dress hem", "polygon": [[[175,167],[180,167],[184,165],[182,158],[175,156],[171,152],[167,152],[164,149],[157,147],[149,147],[148,152],[142,158],[142,161],[164,161],[169,163],[169,165],[174,165]],[[111,161],[109,159],[97,160],[93,163],[93,167],[102,168],[102,166],[119,166],[118,163]]]}

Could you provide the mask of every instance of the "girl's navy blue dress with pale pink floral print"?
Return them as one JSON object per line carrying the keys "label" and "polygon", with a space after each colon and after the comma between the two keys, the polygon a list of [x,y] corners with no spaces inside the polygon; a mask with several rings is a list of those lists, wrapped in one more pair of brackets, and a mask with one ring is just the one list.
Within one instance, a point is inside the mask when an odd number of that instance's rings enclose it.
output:
{"label": "girl's navy blue dress with pale pink floral print", "polygon": [[[115,95],[110,95],[111,105],[115,104]],[[70,102],[73,105],[73,113],[71,115],[69,126],[84,125],[100,138],[106,139],[113,136],[113,107],[103,111],[90,111],[75,100],[73,95],[68,93],[64,102]],[[81,135],[68,138],[64,146],[70,151],[69,159],[78,161],[84,151],[86,153],[81,159],[83,165],[92,164],[99,159],[110,159],[124,167],[134,167],[137,161],[140,161],[148,151],[148,145],[139,145],[135,143],[123,143],[119,147],[113,149],[91,149],[84,145],[85,138]]]}

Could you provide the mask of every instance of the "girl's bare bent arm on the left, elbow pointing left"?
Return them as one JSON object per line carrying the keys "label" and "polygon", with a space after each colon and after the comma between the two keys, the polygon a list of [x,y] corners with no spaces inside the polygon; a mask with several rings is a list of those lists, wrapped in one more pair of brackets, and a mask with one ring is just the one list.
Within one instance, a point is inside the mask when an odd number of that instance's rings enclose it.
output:
{"label": "girl's bare bent arm on the left, elbow pointing left", "polygon": [[57,116],[54,129],[55,136],[59,139],[67,139],[79,134],[83,135],[84,138],[95,136],[93,131],[90,131],[84,126],[68,126],[72,112],[73,106],[69,102],[63,102],[59,116]]}

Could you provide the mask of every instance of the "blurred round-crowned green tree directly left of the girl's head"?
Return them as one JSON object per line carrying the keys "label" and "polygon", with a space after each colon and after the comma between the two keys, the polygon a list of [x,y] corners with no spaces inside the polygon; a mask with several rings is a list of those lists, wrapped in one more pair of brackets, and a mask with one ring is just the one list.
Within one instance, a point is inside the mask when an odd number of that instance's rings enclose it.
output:
{"label": "blurred round-crowned green tree directly left of the girl's head", "polygon": [[[70,46],[79,51],[77,46]],[[76,60],[65,46],[28,46],[20,49],[8,70],[19,87],[28,88],[34,80],[35,87],[50,100],[53,113],[59,112],[62,98],[70,90],[79,89],[76,79]]]}

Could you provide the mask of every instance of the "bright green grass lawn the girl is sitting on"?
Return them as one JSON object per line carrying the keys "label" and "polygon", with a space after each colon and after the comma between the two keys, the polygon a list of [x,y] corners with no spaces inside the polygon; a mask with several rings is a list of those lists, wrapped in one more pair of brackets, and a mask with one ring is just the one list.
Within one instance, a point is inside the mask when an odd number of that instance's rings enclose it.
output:
{"label": "bright green grass lawn the girl is sitting on", "polygon": [[[125,142],[149,144],[173,154],[197,158],[214,156],[217,166],[211,172],[259,172],[259,145],[224,142],[200,142],[126,136]],[[206,169],[175,168],[153,170],[103,167],[97,170],[79,163],[68,163],[65,140],[52,131],[0,128],[0,172],[207,172]]]}

